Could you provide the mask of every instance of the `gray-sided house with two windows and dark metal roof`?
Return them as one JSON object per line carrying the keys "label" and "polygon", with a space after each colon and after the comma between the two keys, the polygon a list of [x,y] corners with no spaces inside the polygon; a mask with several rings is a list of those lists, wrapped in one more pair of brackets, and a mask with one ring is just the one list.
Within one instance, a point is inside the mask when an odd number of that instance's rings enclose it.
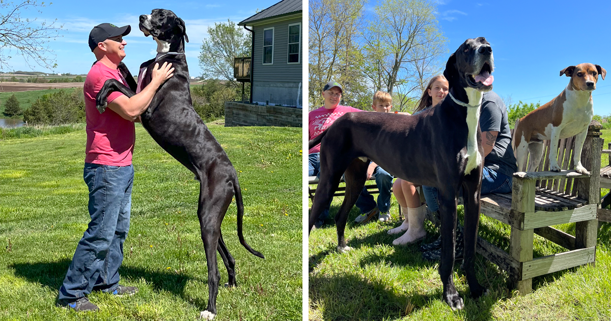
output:
{"label": "gray-sided house with two windows and dark metal roof", "polygon": [[238,23],[252,32],[251,103],[303,106],[302,0],[283,0]]}

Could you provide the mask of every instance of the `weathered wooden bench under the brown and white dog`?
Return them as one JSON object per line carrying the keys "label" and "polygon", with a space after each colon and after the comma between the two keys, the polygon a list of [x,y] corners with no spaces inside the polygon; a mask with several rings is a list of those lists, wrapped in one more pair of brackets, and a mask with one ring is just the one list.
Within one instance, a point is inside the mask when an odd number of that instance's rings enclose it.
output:
{"label": "weathered wooden bench under the brown and white dog", "polygon": [[[532,291],[532,278],[583,264],[594,264],[600,198],[599,171],[602,139],[599,124],[590,124],[581,161],[594,175],[573,170],[574,138],[561,139],[558,164],[549,169],[549,141],[535,172],[516,172],[511,194],[481,197],[481,213],[511,227],[510,253],[478,237],[477,252],[510,275],[521,295]],[[575,223],[575,235],[554,225]],[[568,251],[533,258],[533,237],[538,234]]]}

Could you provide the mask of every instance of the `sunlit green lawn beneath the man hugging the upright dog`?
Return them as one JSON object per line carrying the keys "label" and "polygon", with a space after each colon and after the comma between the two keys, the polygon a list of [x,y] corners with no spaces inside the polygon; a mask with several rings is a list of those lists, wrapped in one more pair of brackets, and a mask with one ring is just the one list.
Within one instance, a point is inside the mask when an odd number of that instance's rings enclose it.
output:
{"label": "sunlit green lawn beneath the man hugging the upright dog", "polygon": [[[238,171],[244,236],[236,206],[222,224],[238,287],[221,286],[215,320],[302,319],[301,128],[210,125]],[[94,292],[95,313],[54,305],[89,223],[82,180],[86,134],[0,141],[0,320],[194,320],[208,301],[197,220],[199,183],[136,125],[131,228],[120,268],[136,295]],[[227,272],[218,256],[221,284]]]}

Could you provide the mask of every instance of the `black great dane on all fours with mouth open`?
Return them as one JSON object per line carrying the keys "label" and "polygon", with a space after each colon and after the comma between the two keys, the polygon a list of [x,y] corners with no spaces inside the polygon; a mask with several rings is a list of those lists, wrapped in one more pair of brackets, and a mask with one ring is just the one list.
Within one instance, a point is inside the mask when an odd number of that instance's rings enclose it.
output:
{"label": "black great dane on all fours with mouth open", "polygon": [[456,196],[463,188],[464,261],[471,295],[486,289],[475,278],[475,240],[480,220],[483,149],[479,127],[483,92],[492,90],[492,48],[486,39],[467,39],[450,56],[444,76],[450,92],[441,103],[415,116],[384,113],[346,113],[309,142],[320,146],[320,182],[310,213],[310,231],[329,204],[344,174],[346,194],[337,215],[337,249],[348,251],[344,229],[367,179],[369,160],[395,177],[439,189],[443,299],[452,309],[464,308],[454,287]]}

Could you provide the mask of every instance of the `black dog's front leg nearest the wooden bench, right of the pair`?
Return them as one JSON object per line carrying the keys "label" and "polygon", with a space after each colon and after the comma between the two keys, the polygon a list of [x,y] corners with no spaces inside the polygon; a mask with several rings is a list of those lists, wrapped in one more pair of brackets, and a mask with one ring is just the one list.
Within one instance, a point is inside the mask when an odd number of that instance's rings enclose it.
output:
{"label": "black dog's front leg nearest the wooden bench, right of the pair", "polygon": [[475,249],[477,246],[477,227],[480,222],[480,187],[481,166],[478,175],[466,175],[463,181],[464,199],[464,259],[463,271],[469,282],[471,296],[478,298],[486,292],[486,288],[477,282],[475,276]]}

